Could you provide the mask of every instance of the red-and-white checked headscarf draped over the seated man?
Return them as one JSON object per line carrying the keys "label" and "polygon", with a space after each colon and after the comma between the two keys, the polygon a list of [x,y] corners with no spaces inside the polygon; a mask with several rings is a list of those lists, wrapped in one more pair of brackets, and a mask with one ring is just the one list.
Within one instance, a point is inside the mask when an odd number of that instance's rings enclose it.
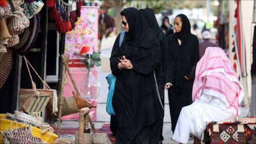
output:
{"label": "red-and-white checked headscarf draped over the seated man", "polygon": [[203,94],[224,101],[226,107],[238,118],[244,90],[225,52],[218,47],[208,47],[196,66],[192,99]]}

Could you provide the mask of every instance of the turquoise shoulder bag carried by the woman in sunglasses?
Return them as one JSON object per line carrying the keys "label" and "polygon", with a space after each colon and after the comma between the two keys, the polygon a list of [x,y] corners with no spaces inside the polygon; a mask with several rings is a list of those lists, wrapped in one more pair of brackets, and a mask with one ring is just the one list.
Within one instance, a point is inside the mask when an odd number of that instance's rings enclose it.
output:
{"label": "turquoise shoulder bag carried by the woman in sunglasses", "polygon": [[[123,40],[124,40],[124,34],[125,31],[122,31],[119,37],[119,48],[121,48]],[[107,105],[106,105],[106,111],[109,115],[115,116],[116,113],[114,111],[113,105],[112,105],[112,99],[113,99],[113,95],[114,95],[114,90],[115,90],[115,84],[116,84],[116,76],[114,76],[113,74],[109,74],[106,77],[107,81],[108,81],[108,98],[107,98]]]}

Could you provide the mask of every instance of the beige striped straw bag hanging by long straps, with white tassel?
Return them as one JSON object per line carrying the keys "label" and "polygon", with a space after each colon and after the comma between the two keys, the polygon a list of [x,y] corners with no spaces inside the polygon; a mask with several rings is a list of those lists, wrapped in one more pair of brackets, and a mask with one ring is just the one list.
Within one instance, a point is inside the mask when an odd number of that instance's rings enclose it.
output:
{"label": "beige striped straw bag hanging by long straps, with white tassel", "polygon": [[23,56],[23,58],[25,60],[27,68],[29,64],[29,66],[34,70],[36,75],[42,81],[46,89],[36,89],[36,83],[33,81],[32,76],[30,74],[30,70],[28,68],[32,89],[20,89],[20,110],[24,110],[26,112],[42,112],[45,109],[50,98],[53,97],[52,113],[56,115],[56,112],[58,111],[58,99],[56,90],[50,89],[48,84],[46,84],[37,74],[36,70],[32,67],[32,65],[29,63],[26,57]]}

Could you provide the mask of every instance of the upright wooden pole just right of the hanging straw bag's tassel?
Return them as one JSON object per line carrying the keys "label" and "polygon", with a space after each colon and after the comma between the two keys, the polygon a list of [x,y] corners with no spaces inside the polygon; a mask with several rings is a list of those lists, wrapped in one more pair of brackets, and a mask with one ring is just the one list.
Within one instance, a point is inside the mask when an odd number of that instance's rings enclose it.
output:
{"label": "upright wooden pole just right of the hanging straw bag's tassel", "polygon": [[[66,61],[65,58],[62,58],[62,61]],[[62,75],[61,75],[61,83],[58,90],[58,97],[60,98],[60,107],[59,107],[59,114],[58,114],[58,127],[57,127],[57,135],[60,136],[60,125],[61,125],[61,113],[62,113],[62,97],[63,97],[63,87],[64,87],[64,81],[65,81],[65,73],[66,73],[66,67],[63,64],[62,65]]]}

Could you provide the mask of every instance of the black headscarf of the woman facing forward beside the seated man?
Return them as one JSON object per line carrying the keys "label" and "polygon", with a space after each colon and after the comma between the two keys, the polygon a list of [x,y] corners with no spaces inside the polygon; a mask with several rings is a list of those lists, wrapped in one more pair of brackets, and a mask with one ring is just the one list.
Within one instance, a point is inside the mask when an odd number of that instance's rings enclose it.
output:
{"label": "black headscarf of the woman facing forward beside the seated man", "polygon": [[182,27],[180,32],[176,32],[180,40],[187,39],[191,35],[191,26],[188,17],[185,14],[179,14],[176,17],[180,17],[182,21]]}

